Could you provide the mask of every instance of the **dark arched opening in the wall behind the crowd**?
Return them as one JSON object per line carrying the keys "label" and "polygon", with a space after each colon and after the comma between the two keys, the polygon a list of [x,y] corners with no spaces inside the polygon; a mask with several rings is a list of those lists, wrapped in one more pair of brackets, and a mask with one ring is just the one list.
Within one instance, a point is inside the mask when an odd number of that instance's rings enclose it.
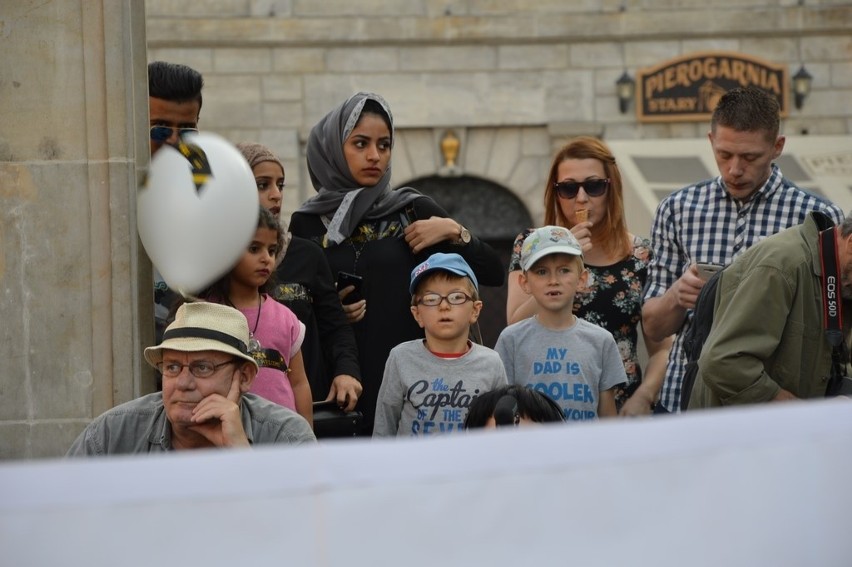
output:
{"label": "dark arched opening in the wall behind the crowd", "polygon": [[[508,269],[515,237],[533,226],[523,202],[502,185],[470,175],[444,177],[432,175],[404,183],[432,197],[453,219],[490,244]],[[506,326],[507,284],[483,287],[479,327],[482,342],[493,347]]]}

